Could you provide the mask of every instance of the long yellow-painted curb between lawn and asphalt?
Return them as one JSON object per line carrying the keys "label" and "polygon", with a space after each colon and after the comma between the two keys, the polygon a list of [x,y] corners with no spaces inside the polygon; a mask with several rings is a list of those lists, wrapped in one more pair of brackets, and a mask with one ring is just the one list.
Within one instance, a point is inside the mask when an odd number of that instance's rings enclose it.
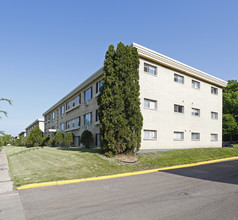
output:
{"label": "long yellow-painted curb between lawn and asphalt", "polygon": [[177,166],[171,166],[171,167],[163,167],[163,168],[152,169],[152,170],[121,173],[121,174],[108,175],[108,176],[90,177],[90,178],[74,179],[74,180],[61,180],[61,181],[43,182],[43,183],[33,183],[33,184],[20,186],[17,188],[17,190],[37,188],[37,187],[42,187],[42,186],[65,185],[65,184],[71,184],[71,183],[80,183],[80,182],[87,182],[87,181],[97,181],[97,180],[105,180],[105,179],[112,179],[112,178],[119,178],[119,177],[126,177],[126,176],[134,176],[134,175],[141,175],[141,174],[154,173],[154,172],[158,172],[158,171],[173,170],[173,169],[186,168],[186,167],[194,167],[194,166],[199,166],[199,165],[218,163],[218,162],[236,160],[236,159],[238,159],[238,156],[197,162],[197,163],[191,163],[191,164],[183,164],[183,165],[177,165]]}

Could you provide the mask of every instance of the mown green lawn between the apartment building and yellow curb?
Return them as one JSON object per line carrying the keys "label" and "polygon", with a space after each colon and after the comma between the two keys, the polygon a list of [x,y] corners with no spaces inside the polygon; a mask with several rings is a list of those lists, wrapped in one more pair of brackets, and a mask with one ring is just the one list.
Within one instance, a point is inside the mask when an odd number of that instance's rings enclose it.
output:
{"label": "mown green lawn between the apartment building and yellow curb", "polygon": [[139,161],[133,164],[107,158],[100,150],[12,146],[6,147],[6,150],[15,187],[29,183],[103,176],[238,156],[238,145],[235,145],[234,149],[200,148],[140,153]]}

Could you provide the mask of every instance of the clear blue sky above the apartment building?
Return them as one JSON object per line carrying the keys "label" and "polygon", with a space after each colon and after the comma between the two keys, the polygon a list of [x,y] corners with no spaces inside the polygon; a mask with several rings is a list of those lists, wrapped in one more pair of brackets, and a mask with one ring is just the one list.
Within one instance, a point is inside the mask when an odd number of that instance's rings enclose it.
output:
{"label": "clear blue sky above the apartment building", "polygon": [[238,1],[0,1],[0,130],[17,135],[136,42],[223,80],[238,79]]}

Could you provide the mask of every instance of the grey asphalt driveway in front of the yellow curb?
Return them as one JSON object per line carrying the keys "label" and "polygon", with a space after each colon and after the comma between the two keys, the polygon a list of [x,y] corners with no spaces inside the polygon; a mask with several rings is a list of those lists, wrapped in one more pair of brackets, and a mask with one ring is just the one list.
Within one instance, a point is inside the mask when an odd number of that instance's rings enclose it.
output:
{"label": "grey asphalt driveway in front of the yellow curb", "polygon": [[238,219],[238,160],[19,194],[27,219]]}

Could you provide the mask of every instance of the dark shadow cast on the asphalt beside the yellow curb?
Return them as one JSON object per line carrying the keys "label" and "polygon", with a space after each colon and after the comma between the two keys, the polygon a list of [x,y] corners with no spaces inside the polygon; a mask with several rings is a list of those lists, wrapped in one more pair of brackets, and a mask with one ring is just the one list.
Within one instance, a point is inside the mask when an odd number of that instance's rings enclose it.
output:
{"label": "dark shadow cast on the asphalt beside the yellow curb", "polygon": [[163,171],[208,181],[238,184],[238,160]]}

